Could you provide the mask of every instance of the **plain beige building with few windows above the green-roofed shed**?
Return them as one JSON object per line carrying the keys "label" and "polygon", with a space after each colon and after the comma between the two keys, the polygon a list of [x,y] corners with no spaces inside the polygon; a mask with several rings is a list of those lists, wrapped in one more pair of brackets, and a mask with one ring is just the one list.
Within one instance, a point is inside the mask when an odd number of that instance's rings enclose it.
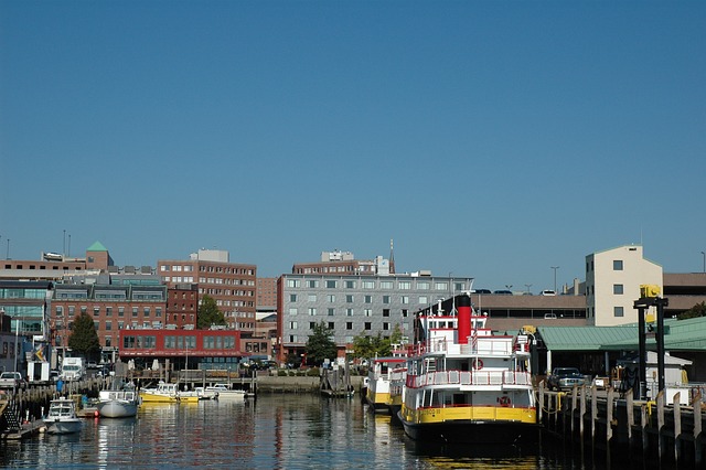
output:
{"label": "plain beige building with few windows above the green-roofed shed", "polygon": [[627,245],[586,256],[589,325],[637,323],[634,301],[640,298],[640,285],[651,284],[663,289],[662,266],[644,259],[642,253],[642,246]]}

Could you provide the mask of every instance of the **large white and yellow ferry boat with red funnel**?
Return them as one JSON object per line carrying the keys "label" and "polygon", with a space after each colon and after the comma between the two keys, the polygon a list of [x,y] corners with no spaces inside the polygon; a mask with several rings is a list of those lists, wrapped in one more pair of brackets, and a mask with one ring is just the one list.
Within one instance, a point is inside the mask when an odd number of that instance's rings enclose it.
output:
{"label": "large white and yellow ferry boat with red funnel", "polygon": [[417,320],[397,416],[415,440],[448,444],[537,442],[539,427],[524,335],[493,335],[468,295]]}

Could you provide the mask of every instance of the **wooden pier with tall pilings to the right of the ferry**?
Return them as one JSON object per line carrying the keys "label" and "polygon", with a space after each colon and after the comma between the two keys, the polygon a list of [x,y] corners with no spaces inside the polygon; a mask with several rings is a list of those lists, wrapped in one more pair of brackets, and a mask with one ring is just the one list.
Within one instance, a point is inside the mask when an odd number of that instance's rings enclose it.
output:
{"label": "wooden pier with tall pilings to the right of the ferry", "polygon": [[[579,457],[593,460],[641,461],[645,468],[705,468],[706,436],[700,395],[674,398],[666,406],[664,393],[654,402],[624,398],[612,388],[574,388],[548,392],[539,384],[538,419],[545,434],[576,446]],[[686,402],[683,404],[682,402]]]}

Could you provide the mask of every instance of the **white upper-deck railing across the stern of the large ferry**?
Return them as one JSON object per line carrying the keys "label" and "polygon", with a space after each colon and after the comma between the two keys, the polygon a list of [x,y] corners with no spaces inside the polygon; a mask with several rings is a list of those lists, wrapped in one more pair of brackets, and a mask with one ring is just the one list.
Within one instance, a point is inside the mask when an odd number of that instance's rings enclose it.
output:
{"label": "white upper-deck railing across the stern of the large ferry", "polygon": [[438,371],[424,375],[407,375],[406,385],[418,388],[429,385],[532,385],[528,372],[515,371]]}

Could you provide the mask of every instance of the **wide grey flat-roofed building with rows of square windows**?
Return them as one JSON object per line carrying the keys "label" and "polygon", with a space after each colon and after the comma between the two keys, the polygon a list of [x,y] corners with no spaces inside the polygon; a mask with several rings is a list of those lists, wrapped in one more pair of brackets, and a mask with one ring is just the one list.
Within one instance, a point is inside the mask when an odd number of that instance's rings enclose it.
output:
{"label": "wide grey flat-roofed building with rows of square windows", "polygon": [[278,359],[302,354],[310,332],[321,321],[333,330],[339,355],[359,334],[391,337],[399,328],[403,337],[409,337],[415,312],[454,292],[469,291],[471,284],[471,278],[417,275],[282,275],[278,279]]}

